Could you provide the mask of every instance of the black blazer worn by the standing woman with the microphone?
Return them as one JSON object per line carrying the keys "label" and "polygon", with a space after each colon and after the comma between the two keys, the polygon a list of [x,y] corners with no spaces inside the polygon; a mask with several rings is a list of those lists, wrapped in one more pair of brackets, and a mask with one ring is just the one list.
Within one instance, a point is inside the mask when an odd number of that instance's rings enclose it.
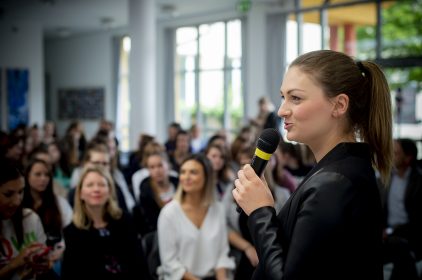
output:
{"label": "black blazer worn by the standing woman with the microphone", "polygon": [[382,208],[369,146],[337,145],[278,216],[262,207],[248,226],[259,257],[253,279],[383,279]]}

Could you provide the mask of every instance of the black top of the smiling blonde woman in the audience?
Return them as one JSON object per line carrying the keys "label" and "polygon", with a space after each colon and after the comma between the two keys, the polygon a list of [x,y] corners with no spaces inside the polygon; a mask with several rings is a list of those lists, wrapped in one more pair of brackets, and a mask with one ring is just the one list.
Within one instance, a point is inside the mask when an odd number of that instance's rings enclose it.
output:
{"label": "black top of the smiling blonde woman in the audience", "polygon": [[62,279],[142,279],[136,235],[127,218],[111,220],[104,229],[83,230],[71,223],[64,239]]}

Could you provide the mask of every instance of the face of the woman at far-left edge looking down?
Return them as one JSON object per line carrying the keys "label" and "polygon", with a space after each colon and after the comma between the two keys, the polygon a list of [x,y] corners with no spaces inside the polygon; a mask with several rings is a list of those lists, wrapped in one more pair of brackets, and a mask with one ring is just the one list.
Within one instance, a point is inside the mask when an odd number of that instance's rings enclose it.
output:
{"label": "face of the woman at far-left edge looking down", "polygon": [[0,216],[10,219],[22,203],[25,181],[23,177],[6,182],[0,186]]}

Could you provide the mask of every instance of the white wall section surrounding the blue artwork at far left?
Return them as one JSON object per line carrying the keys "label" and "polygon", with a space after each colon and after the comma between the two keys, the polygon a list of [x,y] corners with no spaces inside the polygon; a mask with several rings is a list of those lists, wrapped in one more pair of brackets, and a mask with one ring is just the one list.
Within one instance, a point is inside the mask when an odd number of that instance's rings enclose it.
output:
{"label": "white wall section surrounding the blue artwork at far left", "polygon": [[[42,28],[35,22],[19,22],[13,27],[12,30],[12,25],[5,22],[0,25],[0,68],[29,70],[29,124],[42,125],[45,121]],[[2,129],[6,128],[2,125]]]}

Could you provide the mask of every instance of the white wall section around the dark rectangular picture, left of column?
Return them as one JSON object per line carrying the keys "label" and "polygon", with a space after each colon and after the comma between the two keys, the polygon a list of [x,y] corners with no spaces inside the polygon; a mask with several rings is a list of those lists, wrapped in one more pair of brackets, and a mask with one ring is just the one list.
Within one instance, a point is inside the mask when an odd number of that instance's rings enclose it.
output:
{"label": "white wall section around the dark rectangular picture, left of column", "polygon": [[[50,76],[50,104],[52,117],[64,135],[71,120],[58,120],[58,90],[61,88],[103,87],[105,90],[105,118],[115,120],[113,92],[112,35],[107,32],[47,40],[45,44],[46,71]],[[98,129],[98,121],[82,121],[86,136],[91,138]]]}

